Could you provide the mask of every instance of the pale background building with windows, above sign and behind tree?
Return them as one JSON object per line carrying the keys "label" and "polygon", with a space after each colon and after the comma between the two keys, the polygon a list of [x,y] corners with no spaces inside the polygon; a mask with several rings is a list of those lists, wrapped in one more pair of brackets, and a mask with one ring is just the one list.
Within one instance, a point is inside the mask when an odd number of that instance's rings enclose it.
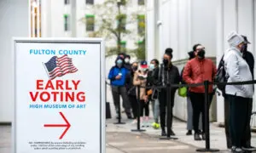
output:
{"label": "pale background building with windows, above sign and behind tree", "polygon": [[[101,25],[100,13],[108,13],[107,9],[97,10],[96,6],[105,0],[31,0],[32,1],[32,37],[95,37]],[[116,0],[118,2],[118,0]],[[114,14],[117,7],[113,6]],[[121,13],[126,14],[125,27],[131,31],[129,36],[123,37],[122,46],[125,48],[136,48],[140,41],[137,25],[139,21],[134,20],[134,14],[145,15],[145,0],[127,0],[126,7],[121,8]],[[114,22],[117,22],[113,20]],[[107,46],[116,43],[114,39],[108,39]]]}

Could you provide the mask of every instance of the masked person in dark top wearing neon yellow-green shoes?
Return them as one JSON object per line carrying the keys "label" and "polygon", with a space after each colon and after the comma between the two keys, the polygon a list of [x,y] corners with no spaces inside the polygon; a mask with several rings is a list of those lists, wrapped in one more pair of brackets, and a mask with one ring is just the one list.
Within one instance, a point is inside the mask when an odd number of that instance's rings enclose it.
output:
{"label": "masked person in dark top wearing neon yellow-green shoes", "polygon": [[[158,59],[152,59],[149,65],[148,71],[148,82],[147,85],[157,86],[158,85],[158,76],[159,76],[159,61]],[[149,92],[150,91],[150,92]],[[159,107],[159,89],[152,88],[148,92],[151,93],[149,96],[149,100],[151,101],[152,111],[154,115],[154,122],[152,123],[152,127],[158,129],[160,127],[159,117],[160,117],[160,107]]]}

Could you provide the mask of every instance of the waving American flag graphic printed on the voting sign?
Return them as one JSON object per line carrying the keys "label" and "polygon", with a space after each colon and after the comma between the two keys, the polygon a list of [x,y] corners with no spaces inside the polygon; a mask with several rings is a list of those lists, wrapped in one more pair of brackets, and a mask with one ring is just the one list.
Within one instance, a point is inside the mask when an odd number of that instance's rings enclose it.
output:
{"label": "waving American flag graphic printed on the voting sign", "polygon": [[54,56],[50,58],[47,63],[44,63],[44,65],[47,69],[49,80],[78,71],[78,69],[73,65],[72,59],[69,58],[67,54],[61,56],[60,58]]}

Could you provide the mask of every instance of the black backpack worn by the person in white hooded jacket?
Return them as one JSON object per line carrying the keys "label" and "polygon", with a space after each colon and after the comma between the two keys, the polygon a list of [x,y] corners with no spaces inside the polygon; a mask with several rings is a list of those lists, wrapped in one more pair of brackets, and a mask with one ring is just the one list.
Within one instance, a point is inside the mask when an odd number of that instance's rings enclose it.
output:
{"label": "black backpack worn by the person in white hooded jacket", "polygon": [[[214,77],[214,82],[228,82],[228,77],[226,77],[226,71],[224,69],[224,55],[219,61],[217,74]],[[225,91],[225,87],[226,85],[217,85],[217,88],[223,92]]]}

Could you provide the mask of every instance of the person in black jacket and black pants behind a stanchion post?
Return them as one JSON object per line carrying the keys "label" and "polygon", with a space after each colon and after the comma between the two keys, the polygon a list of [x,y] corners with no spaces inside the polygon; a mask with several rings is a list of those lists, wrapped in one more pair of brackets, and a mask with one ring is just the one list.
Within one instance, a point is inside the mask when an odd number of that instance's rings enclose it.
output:
{"label": "person in black jacket and black pants behind a stanchion post", "polygon": [[[179,84],[180,76],[178,69],[175,65],[172,65],[172,48],[166,48],[166,52],[163,56],[163,63],[160,65],[159,73],[160,85],[166,86],[169,84]],[[166,136],[166,106],[171,103],[173,109],[174,96],[177,88],[171,88],[171,93],[167,93],[167,88],[160,89],[159,100],[160,100],[160,127],[161,136]],[[171,101],[166,101],[166,95],[171,94]],[[171,127],[172,127],[172,109],[171,109]],[[171,135],[175,135],[171,129]]]}

